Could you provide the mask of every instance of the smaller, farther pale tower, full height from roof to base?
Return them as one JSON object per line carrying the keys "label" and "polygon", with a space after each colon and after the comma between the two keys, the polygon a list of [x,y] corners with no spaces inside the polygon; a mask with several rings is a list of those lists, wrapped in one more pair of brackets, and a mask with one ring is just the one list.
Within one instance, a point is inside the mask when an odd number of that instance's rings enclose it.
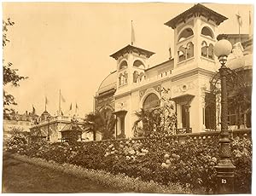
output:
{"label": "smaller, farther pale tower, full height from roof to base", "polygon": [[131,89],[138,80],[145,78],[148,58],[151,55],[154,55],[154,52],[137,48],[132,44],[110,55],[117,61],[117,88],[114,94],[116,138],[133,136],[134,122],[131,122],[131,118],[134,111],[132,111]]}

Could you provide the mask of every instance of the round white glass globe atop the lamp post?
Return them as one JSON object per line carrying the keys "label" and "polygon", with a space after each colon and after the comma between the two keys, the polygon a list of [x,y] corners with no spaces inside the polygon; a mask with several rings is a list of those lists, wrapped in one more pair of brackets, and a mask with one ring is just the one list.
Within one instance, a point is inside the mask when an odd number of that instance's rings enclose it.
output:
{"label": "round white glass globe atop the lamp post", "polygon": [[214,54],[219,58],[230,55],[232,44],[227,39],[221,39],[214,45]]}

